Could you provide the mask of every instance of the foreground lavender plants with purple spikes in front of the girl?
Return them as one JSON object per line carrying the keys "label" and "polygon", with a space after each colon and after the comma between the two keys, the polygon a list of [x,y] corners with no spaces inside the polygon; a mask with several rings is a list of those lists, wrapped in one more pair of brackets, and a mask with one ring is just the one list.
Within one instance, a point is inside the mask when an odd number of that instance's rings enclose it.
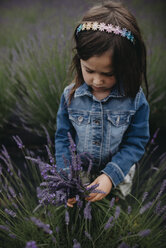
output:
{"label": "foreground lavender plants with purple spikes in front of the girl", "polygon": [[[46,146],[48,158],[36,158],[18,136],[14,140],[26,159],[22,168],[18,168],[2,147],[1,247],[78,248],[110,247],[111,244],[113,248],[164,248],[166,179],[163,172],[166,159],[165,155],[152,159],[154,139],[139,163],[147,180],[142,182],[144,175],[137,170],[135,194],[117,201],[116,195],[111,193],[95,203],[84,200],[84,196],[96,189],[87,189],[83,184],[80,157],[72,141],[72,163],[67,173],[57,170],[50,144]],[[66,200],[71,197],[73,187],[72,196],[76,197],[77,203],[69,208]]]}

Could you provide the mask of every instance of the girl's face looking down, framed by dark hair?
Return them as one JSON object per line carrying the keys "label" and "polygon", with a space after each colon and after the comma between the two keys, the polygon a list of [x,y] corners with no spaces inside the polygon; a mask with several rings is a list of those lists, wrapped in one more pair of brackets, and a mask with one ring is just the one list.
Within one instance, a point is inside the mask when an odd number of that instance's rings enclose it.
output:
{"label": "girl's face looking down, framed by dark hair", "polygon": [[93,95],[99,100],[107,97],[116,84],[111,51],[88,60],[80,60],[84,81],[92,88]]}

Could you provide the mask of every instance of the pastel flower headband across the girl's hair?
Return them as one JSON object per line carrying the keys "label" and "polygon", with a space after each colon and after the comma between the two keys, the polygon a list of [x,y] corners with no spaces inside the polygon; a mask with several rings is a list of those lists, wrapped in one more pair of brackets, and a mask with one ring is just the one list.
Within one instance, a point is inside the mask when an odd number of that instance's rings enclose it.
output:
{"label": "pastel flower headband across the girl's hair", "polygon": [[126,37],[128,40],[130,40],[132,43],[134,43],[135,39],[132,35],[131,31],[127,30],[126,28],[121,29],[119,26],[113,26],[112,24],[105,24],[104,22],[98,23],[98,22],[85,22],[81,23],[76,31],[76,35],[78,35],[79,32],[84,30],[99,30],[99,31],[105,31],[107,33],[114,33],[117,35],[121,35],[122,37]]}

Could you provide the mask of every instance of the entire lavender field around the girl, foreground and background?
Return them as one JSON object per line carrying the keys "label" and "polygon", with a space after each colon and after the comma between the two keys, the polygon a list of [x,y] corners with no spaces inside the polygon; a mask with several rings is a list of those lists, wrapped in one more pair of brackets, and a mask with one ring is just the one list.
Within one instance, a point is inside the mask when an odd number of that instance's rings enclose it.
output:
{"label": "entire lavender field around the girl, foreground and background", "polygon": [[[73,177],[56,171],[56,113],[72,80],[72,32],[96,2],[0,1],[0,248],[166,247],[165,1],[122,1],[147,45],[151,107],[151,140],[131,194],[117,201],[113,191],[87,203],[74,153]],[[77,204],[70,209],[73,185]]]}

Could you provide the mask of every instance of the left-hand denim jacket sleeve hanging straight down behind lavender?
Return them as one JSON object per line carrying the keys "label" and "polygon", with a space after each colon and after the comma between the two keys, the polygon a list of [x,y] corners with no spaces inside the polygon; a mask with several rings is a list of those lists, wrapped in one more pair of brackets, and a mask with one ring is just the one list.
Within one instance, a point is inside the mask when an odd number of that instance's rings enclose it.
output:
{"label": "left-hand denim jacket sleeve hanging straight down behind lavender", "polygon": [[70,162],[68,132],[74,137],[74,128],[69,120],[68,106],[64,94],[61,96],[57,112],[57,128],[55,134],[55,157],[59,169],[66,168]]}

